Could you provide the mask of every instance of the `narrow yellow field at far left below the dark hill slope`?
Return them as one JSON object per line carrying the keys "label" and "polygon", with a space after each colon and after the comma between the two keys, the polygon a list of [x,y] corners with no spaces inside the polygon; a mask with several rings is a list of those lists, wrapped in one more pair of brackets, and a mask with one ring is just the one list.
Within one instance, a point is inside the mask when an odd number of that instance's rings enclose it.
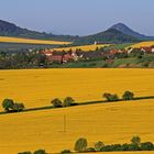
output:
{"label": "narrow yellow field at far left below the dark hill slope", "polygon": [[19,38],[19,37],[7,37],[0,36],[2,43],[25,43],[25,44],[70,44],[70,42],[58,42],[58,41],[44,41],[44,40],[32,40],[32,38]]}

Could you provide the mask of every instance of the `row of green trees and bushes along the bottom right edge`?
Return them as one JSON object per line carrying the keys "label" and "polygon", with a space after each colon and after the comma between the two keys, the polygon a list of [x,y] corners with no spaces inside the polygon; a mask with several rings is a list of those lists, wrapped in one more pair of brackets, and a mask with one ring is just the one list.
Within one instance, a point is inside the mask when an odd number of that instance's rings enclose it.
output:
{"label": "row of green trees and bushes along the bottom right edge", "polygon": [[[117,152],[117,151],[154,151],[154,144],[152,142],[141,143],[140,136],[133,136],[131,143],[124,144],[111,144],[106,145],[103,142],[98,141],[94,144],[94,147],[88,147],[87,139],[80,138],[76,141],[74,150],[79,153],[87,152]],[[62,151],[63,154],[72,153],[69,150]]]}

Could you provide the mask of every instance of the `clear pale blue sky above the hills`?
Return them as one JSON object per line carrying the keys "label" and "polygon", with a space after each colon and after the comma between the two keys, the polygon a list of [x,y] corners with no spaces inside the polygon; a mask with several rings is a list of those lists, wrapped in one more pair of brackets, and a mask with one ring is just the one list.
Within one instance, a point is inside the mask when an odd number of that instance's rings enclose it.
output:
{"label": "clear pale blue sky above the hills", "polygon": [[154,0],[0,0],[0,19],[56,34],[89,35],[122,22],[154,35]]}

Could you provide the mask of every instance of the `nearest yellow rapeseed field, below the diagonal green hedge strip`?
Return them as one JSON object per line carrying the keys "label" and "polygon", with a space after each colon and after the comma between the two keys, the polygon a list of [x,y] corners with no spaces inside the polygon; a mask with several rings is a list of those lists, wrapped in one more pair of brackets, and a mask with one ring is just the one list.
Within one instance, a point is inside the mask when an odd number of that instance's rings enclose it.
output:
{"label": "nearest yellow rapeseed field, below the diagonal green hedge strip", "polygon": [[[64,116],[66,132],[63,124]],[[153,142],[153,123],[154,100],[4,114],[0,116],[0,153],[16,154],[37,148],[45,148],[48,153],[65,148],[74,150],[78,138],[86,138],[88,146],[94,146],[97,141],[105,144],[130,143],[133,135],[140,135],[142,142]]]}

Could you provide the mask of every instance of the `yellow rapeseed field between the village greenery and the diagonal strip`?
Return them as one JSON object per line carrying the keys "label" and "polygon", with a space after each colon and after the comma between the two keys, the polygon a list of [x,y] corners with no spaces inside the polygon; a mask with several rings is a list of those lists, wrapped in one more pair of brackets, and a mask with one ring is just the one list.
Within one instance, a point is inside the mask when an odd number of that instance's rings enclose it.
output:
{"label": "yellow rapeseed field between the village greenery and the diagonal strip", "polygon": [[[23,69],[0,72],[0,101],[12,98],[26,108],[50,106],[54,98],[101,100],[103,92],[154,95],[154,69]],[[1,109],[1,107],[0,107]]]}

